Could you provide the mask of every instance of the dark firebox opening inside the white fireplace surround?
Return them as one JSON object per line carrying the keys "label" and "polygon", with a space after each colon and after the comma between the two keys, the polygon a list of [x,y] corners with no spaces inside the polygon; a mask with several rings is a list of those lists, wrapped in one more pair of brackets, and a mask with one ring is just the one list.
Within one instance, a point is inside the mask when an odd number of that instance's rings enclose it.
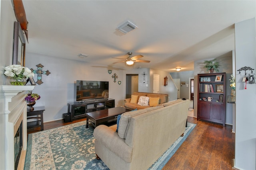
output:
{"label": "dark firebox opening inside the white fireplace surround", "polygon": [[22,146],[23,145],[22,145],[22,122],[21,122],[16,132],[16,135],[14,136],[14,161],[15,161],[14,169],[15,170],[18,168]]}

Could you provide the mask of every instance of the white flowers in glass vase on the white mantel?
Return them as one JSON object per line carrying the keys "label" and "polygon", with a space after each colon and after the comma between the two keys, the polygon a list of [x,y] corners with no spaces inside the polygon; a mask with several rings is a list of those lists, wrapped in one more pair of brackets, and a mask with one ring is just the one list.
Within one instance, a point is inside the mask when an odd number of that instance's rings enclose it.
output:
{"label": "white flowers in glass vase on the white mantel", "polygon": [[34,77],[34,72],[28,67],[18,64],[6,66],[4,70],[4,75],[10,77],[10,83],[15,86],[24,86],[27,82],[26,78]]}

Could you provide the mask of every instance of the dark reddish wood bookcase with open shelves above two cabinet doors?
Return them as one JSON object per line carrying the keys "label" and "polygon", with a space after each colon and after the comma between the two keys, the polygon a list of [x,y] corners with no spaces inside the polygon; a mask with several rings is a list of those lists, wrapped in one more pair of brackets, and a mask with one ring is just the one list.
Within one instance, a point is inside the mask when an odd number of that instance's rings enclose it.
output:
{"label": "dark reddish wood bookcase with open shelves above two cabinet doors", "polygon": [[197,103],[197,120],[225,126],[226,73],[198,74]]}

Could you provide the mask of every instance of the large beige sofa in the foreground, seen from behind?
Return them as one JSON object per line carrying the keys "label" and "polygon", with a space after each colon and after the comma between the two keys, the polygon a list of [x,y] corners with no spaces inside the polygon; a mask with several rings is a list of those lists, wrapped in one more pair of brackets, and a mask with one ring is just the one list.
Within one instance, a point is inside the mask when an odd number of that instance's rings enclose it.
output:
{"label": "large beige sofa in the foreground, seen from behind", "polygon": [[[111,170],[147,170],[185,131],[189,100],[123,113],[94,129],[95,153]],[[124,138],[124,139],[123,139]]]}

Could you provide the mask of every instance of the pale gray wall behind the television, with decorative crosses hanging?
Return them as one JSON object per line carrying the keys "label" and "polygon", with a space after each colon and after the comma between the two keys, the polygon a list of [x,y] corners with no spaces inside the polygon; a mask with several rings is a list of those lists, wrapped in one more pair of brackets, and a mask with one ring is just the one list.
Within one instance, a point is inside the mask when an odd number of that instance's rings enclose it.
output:
{"label": "pale gray wall behind the television, with decorative crosses hanging", "polygon": [[[108,67],[93,67],[86,62],[63,59],[26,53],[25,66],[37,70],[36,65],[42,64],[42,70],[49,70],[51,74],[42,74],[41,85],[36,84],[33,92],[41,96],[36,101],[37,106],[45,106],[44,122],[62,119],[63,113],[67,113],[68,103],[76,101],[76,80],[109,81],[109,98],[115,99],[115,106],[123,106],[125,98],[125,79],[123,70],[112,70],[108,73]],[[118,78],[114,82],[112,75],[116,73]],[[37,74],[34,76],[36,82]],[[118,84],[121,81],[121,84]]]}

